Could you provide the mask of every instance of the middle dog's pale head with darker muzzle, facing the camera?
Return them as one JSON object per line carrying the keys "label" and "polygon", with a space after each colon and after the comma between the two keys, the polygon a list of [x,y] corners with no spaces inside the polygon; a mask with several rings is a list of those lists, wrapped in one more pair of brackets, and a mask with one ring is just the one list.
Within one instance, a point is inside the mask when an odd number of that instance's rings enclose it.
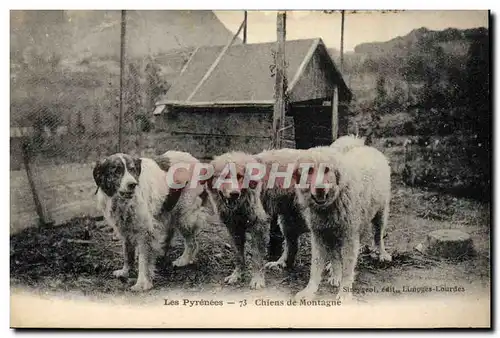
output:
{"label": "middle dog's pale head with darker muzzle, facing the camera", "polygon": [[226,208],[236,209],[251,194],[259,193],[265,166],[254,156],[231,152],[214,158],[210,164],[213,175],[206,181],[207,189]]}

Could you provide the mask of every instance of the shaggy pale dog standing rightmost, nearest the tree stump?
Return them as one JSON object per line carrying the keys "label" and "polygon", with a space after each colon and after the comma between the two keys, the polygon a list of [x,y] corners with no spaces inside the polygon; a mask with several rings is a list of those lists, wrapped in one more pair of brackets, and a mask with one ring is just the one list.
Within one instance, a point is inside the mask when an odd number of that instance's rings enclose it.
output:
{"label": "shaggy pale dog standing rightmost, nearest the tree stump", "polygon": [[304,153],[300,161],[314,163],[313,175],[320,163],[328,164],[329,171],[324,178],[332,186],[311,184],[297,188],[311,230],[311,271],[309,283],[296,297],[313,297],[326,262],[330,260],[333,273],[330,282],[339,286],[341,298],[349,298],[359,255],[360,232],[368,223],[373,225],[379,259],[391,260],[384,246],[391,196],[388,161],[382,153],[368,146],[353,147],[345,153],[320,147]]}

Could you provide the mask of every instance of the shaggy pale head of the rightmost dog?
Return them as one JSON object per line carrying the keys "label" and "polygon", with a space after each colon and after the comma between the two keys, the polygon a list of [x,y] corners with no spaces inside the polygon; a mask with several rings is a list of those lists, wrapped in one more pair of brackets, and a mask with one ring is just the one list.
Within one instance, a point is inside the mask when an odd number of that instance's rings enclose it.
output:
{"label": "shaggy pale head of the rightmost dog", "polygon": [[337,159],[310,156],[301,160],[294,172],[297,189],[311,208],[326,208],[344,189],[344,172]]}

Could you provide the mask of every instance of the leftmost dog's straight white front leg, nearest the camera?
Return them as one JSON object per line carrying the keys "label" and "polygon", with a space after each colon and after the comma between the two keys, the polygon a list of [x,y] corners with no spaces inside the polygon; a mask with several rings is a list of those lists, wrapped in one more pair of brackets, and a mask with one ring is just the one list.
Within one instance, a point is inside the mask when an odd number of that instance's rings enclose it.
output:
{"label": "leftmost dog's straight white front leg, nearest the camera", "polygon": [[137,282],[132,286],[132,291],[146,291],[153,287],[154,252],[151,245],[151,236],[145,234],[139,237],[137,242],[138,276]]}

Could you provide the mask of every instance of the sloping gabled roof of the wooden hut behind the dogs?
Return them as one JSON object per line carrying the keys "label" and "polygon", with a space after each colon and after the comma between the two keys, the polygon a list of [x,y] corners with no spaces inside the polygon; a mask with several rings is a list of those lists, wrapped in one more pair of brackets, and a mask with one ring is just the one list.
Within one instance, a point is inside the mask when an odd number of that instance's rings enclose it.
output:
{"label": "sloping gabled roof of the wooden hut behind the dogs", "polygon": [[[158,105],[223,106],[273,104],[275,79],[271,76],[276,43],[233,45],[217,60],[224,46],[200,47]],[[312,56],[322,50],[322,65],[341,90],[351,95],[323,41],[286,41],[288,91],[292,92]],[[217,62],[216,62],[217,61]],[[215,67],[214,67],[215,66]],[[211,69],[212,68],[212,69]],[[204,81],[202,80],[205,77]]]}

